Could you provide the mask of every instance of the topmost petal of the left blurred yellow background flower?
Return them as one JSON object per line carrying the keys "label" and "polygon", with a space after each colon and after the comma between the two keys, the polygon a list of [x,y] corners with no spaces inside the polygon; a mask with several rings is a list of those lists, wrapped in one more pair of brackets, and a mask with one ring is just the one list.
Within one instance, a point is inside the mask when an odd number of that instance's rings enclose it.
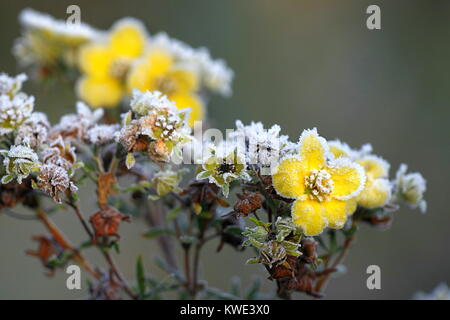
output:
{"label": "topmost petal of the left blurred yellow background flower", "polygon": [[144,52],[145,38],[142,24],[138,20],[125,18],[114,25],[109,41],[116,56],[137,58]]}

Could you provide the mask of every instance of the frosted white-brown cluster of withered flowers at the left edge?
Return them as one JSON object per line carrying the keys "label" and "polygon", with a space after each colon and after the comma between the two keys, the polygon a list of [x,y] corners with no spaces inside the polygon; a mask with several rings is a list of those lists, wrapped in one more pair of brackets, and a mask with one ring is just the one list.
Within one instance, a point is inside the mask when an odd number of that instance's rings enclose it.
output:
{"label": "frosted white-brown cluster of withered flowers at the left edge", "polygon": [[[17,180],[33,186],[61,202],[61,194],[75,192],[71,181],[77,163],[72,140],[102,143],[114,139],[115,125],[96,125],[101,109],[92,112],[84,103],[77,104],[77,114],[63,116],[51,127],[45,114],[34,112],[34,97],[21,92],[26,76],[0,75],[0,142],[3,165],[2,184]],[[28,179],[36,173],[35,179]]]}

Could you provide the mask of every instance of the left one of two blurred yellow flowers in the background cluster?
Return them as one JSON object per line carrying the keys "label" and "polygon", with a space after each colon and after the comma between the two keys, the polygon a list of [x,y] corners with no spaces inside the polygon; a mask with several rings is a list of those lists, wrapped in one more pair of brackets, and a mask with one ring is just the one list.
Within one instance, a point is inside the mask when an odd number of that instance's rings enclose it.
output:
{"label": "left one of two blurred yellow flowers in the background cluster", "polygon": [[133,59],[142,56],[146,35],[141,23],[126,18],[112,28],[106,42],[90,43],[80,50],[80,97],[94,108],[115,107],[125,94],[124,82]]}

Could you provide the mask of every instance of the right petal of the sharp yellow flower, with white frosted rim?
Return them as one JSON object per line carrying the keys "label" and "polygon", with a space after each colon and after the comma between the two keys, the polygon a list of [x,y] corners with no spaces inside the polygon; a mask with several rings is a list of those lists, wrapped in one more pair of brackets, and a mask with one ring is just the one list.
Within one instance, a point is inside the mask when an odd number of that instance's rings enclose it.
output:
{"label": "right petal of the sharp yellow flower, with white frosted rim", "polygon": [[348,200],[357,196],[364,188],[366,179],[364,169],[348,158],[336,159],[327,170],[334,183],[331,193],[333,198]]}

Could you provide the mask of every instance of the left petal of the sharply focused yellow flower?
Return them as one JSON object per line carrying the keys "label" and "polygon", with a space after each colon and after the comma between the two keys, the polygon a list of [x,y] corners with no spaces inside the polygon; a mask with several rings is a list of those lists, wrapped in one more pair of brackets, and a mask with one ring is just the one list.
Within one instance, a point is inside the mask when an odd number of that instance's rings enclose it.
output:
{"label": "left petal of the sharply focused yellow flower", "polygon": [[299,198],[305,194],[305,174],[305,168],[298,158],[287,158],[275,168],[272,184],[279,195]]}

